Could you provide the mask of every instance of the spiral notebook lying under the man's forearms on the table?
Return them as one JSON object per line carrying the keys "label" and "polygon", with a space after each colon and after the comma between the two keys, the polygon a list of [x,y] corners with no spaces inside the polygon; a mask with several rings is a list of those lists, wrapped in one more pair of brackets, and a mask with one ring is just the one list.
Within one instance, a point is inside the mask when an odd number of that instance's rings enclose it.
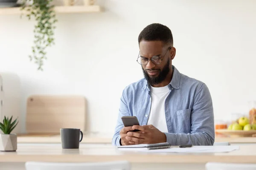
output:
{"label": "spiral notebook lying under the man's forearms on the table", "polygon": [[171,144],[164,142],[164,143],[157,143],[157,144],[132,144],[132,145],[125,145],[125,146],[118,146],[118,148],[138,148],[138,149],[165,149],[171,147]]}

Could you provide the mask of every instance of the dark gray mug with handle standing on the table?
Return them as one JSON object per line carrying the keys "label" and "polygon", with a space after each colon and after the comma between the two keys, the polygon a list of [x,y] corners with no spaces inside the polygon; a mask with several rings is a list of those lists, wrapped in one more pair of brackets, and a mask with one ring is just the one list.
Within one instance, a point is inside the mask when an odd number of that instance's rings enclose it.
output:
{"label": "dark gray mug with handle standing on the table", "polygon": [[[81,134],[81,139],[80,139]],[[78,149],[79,143],[83,139],[83,133],[80,129],[62,128],[61,145],[63,149]]]}

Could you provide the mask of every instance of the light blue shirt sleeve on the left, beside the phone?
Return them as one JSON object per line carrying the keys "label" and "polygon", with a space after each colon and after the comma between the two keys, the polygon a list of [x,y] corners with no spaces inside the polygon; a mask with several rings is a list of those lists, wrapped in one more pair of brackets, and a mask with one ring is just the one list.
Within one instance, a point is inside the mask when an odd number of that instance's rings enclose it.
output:
{"label": "light blue shirt sleeve on the left, beside the phone", "polygon": [[121,145],[121,138],[120,138],[120,130],[124,127],[121,117],[122,116],[131,116],[128,105],[127,105],[127,99],[126,99],[126,89],[122,92],[122,96],[120,99],[120,107],[119,107],[119,113],[117,118],[117,123],[115,127],[115,132],[112,139],[112,145],[114,146],[120,146]]}

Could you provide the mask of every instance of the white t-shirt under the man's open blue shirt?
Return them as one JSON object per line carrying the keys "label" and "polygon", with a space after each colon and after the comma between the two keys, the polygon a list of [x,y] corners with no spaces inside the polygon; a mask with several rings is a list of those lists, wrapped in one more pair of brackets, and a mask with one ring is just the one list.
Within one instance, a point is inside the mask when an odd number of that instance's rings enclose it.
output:
{"label": "white t-shirt under the man's open blue shirt", "polygon": [[167,132],[165,116],[165,100],[170,90],[168,85],[160,88],[151,86],[151,110],[148,117],[147,125],[153,125],[161,132]]}

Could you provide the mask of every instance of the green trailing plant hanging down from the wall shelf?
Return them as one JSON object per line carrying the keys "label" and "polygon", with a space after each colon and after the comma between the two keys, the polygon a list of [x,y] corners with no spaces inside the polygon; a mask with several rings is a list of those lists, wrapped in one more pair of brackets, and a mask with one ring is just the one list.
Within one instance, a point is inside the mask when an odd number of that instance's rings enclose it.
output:
{"label": "green trailing plant hanging down from the wall shelf", "polygon": [[[31,2],[32,3],[29,3]],[[23,0],[21,10],[26,10],[26,16],[31,19],[35,17],[37,24],[34,28],[34,45],[32,46],[32,55],[29,55],[30,61],[34,60],[38,65],[38,70],[43,70],[46,49],[54,45],[54,24],[58,21],[55,18],[54,5],[52,0]],[[29,4],[29,5],[27,5]],[[21,14],[22,17],[23,14]]]}

